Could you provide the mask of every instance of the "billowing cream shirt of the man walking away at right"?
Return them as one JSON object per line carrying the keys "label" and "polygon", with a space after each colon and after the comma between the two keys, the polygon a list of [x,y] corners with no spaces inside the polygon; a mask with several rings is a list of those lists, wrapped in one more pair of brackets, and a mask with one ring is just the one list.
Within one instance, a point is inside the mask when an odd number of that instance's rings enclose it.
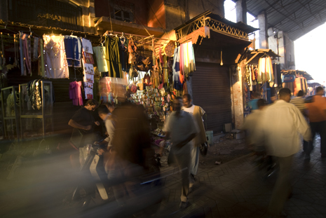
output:
{"label": "billowing cream shirt of the man walking away at right", "polygon": [[311,138],[311,130],[299,109],[278,100],[267,107],[262,114],[262,121],[257,134],[264,139],[266,149],[271,156],[287,157],[296,154],[301,147],[301,137],[306,141]]}

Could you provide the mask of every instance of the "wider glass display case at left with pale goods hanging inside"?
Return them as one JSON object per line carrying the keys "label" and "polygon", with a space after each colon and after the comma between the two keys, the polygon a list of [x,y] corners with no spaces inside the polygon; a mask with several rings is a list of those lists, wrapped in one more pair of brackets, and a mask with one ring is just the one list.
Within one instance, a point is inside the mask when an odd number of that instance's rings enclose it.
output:
{"label": "wider glass display case at left with pale goods hanging inside", "polygon": [[52,82],[36,80],[20,84],[21,137],[39,137],[53,132]]}

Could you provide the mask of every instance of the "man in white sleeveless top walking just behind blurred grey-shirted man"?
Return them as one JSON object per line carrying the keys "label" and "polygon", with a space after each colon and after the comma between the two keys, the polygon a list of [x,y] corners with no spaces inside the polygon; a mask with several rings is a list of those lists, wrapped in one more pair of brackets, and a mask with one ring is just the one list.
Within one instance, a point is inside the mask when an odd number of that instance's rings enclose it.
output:
{"label": "man in white sleeveless top walking just behind blurred grey-shirted man", "polygon": [[194,121],[198,125],[199,132],[198,135],[191,142],[191,161],[190,161],[190,184],[189,184],[189,192],[193,189],[193,184],[195,184],[195,175],[197,175],[198,165],[199,165],[199,148],[201,144],[205,144],[207,142],[206,132],[203,123],[203,116],[205,111],[196,105],[192,104],[191,96],[189,94],[185,94],[183,96],[183,104],[182,110],[188,112],[193,116]]}

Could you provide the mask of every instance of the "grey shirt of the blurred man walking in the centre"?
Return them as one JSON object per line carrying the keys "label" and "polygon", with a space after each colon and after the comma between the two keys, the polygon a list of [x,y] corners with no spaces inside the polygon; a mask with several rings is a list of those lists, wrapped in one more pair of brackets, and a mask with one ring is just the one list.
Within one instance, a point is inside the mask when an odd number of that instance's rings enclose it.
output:
{"label": "grey shirt of the blurred man walking in the centre", "polygon": [[[197,123],[194,121],[193,116],[187,113],[186,111],[180,111],[179,116],[176,116],[176,112],[172,112],[170,116],[168,116],[165,121],[165,126],[163,129],[165,132],[170,132],[172,147],[180,142],[184,141],[187,137],[189,137],[193,133],[198,133],[199,128]],[[188,142],[184,147],[190,149],[191,142]],[[183,149],[175,149],[175,154],[182,152]]]}

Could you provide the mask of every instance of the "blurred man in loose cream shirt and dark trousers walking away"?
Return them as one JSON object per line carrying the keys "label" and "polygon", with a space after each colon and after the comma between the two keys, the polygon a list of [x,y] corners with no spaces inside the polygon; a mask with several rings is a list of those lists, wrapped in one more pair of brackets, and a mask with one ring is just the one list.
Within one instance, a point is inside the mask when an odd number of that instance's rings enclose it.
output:
{"label": "blurred man in loose cream shirt and dark trousers walking away", "polygon": [[273,189],[269,213],[280,216],[285,200],[291,194],[290,170],[292,158],[301,147],[301,135],[310,140],[311,131],[299,109],[290,104],[291,91],[280,89],[279,100],[264,110],[260,130],[267,153],[274,156],[280,167],[278,179]]}

